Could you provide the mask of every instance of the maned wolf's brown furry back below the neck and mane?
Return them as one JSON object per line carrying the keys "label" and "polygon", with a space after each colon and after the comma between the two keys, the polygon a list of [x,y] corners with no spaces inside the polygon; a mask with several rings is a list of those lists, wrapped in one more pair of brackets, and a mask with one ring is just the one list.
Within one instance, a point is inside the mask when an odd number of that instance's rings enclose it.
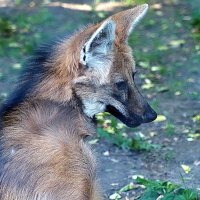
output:
{"label": "maned wolf's brown furry back below the neck and mane", "polygon": [[15,123],[8,119],[2,131],[1,200],[98,199],[95,161],[76,109],[37,101],[12,115]]}

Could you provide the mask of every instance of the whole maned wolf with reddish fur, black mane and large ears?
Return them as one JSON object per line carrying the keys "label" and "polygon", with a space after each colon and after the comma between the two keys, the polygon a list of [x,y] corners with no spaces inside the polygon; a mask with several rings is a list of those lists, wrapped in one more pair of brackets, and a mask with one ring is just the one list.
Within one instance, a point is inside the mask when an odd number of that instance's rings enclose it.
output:
{"label": "whole maned wolf with reddish fur, black mane and large ears", "polygon": [[1,108],[1,200],[100,200],[85,138],[108,111],[127,126],[156,113],[134,84],[127,37],[148,5],[117,13],[44,46]]}

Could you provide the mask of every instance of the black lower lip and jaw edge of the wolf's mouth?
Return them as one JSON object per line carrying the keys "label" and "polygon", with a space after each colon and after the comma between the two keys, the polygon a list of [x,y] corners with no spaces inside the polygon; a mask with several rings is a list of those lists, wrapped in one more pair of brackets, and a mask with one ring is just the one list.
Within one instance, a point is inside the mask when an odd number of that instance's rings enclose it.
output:
{"label": "black lower lip and jaw edge of the wolf's mouth", "polygon": [[118,118],[121,122],[126,124],[128,127],[135,128],[143,123],[143,120],[140,116],[136,114],[132,114],[133,117],[129,117],[129,119],[121,114],[115,107],[108,105],[106,107],[106,111]]}

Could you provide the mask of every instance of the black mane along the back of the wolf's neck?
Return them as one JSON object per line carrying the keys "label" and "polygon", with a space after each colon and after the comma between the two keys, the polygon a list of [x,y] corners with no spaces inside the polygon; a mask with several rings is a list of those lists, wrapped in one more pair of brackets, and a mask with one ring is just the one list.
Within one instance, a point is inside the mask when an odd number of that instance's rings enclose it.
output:
{"label": "black mane along the back of the wolf's neck", "polygon": [[48,69],[43,66],[51,58],[55,45],[55,43],[51,42],[40,46],[35,50],[33,56],[27,60],[26,66],[18,80],[17,87],[0,107],[0,118],[22,103],[40,80],[45,77]]}

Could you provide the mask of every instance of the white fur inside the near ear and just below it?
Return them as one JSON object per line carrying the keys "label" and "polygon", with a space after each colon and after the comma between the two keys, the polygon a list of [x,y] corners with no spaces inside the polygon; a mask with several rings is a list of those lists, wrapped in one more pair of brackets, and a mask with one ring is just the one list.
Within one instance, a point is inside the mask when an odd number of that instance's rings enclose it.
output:
{"label": "white fur inside the near ear and just below it", "polygon": [[[106,83],[112,65],[112,44],[115,38],[115,23],[112,19],[104,21],[84,44],[80,53],[80,63],[87,66],[86,77],[99,84]],[[100,37],[105,32],[105,37]],[[92,43],[97,45],[93,46]]]}

